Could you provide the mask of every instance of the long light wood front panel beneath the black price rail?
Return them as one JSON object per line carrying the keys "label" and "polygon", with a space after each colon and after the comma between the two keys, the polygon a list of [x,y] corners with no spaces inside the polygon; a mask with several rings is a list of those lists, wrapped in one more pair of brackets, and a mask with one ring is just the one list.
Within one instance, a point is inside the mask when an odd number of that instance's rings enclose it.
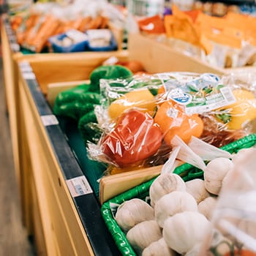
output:
{"label": "long light wood front panel beneath the black price rail", "polygon": [[42,220],[45,255],[94,255],[34,99],[31,98],[26,81],[22,79],[20,102],[26,113],[24,118],[29,146],[26,151],[31,157],[32,183]]}

